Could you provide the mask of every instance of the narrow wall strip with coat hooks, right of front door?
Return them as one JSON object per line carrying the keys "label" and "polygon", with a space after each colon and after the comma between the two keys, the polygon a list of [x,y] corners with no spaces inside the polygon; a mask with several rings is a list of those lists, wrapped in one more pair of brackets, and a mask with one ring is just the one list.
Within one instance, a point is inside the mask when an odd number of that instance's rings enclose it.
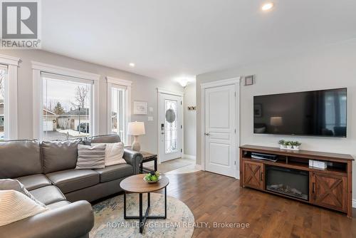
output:
{"label": "narrow wall strip with coat hooks, right of front door", "polygon": [[197,105],[195,82],[184,88],[184,154],[197,155],[197,110],[188,110]]}

